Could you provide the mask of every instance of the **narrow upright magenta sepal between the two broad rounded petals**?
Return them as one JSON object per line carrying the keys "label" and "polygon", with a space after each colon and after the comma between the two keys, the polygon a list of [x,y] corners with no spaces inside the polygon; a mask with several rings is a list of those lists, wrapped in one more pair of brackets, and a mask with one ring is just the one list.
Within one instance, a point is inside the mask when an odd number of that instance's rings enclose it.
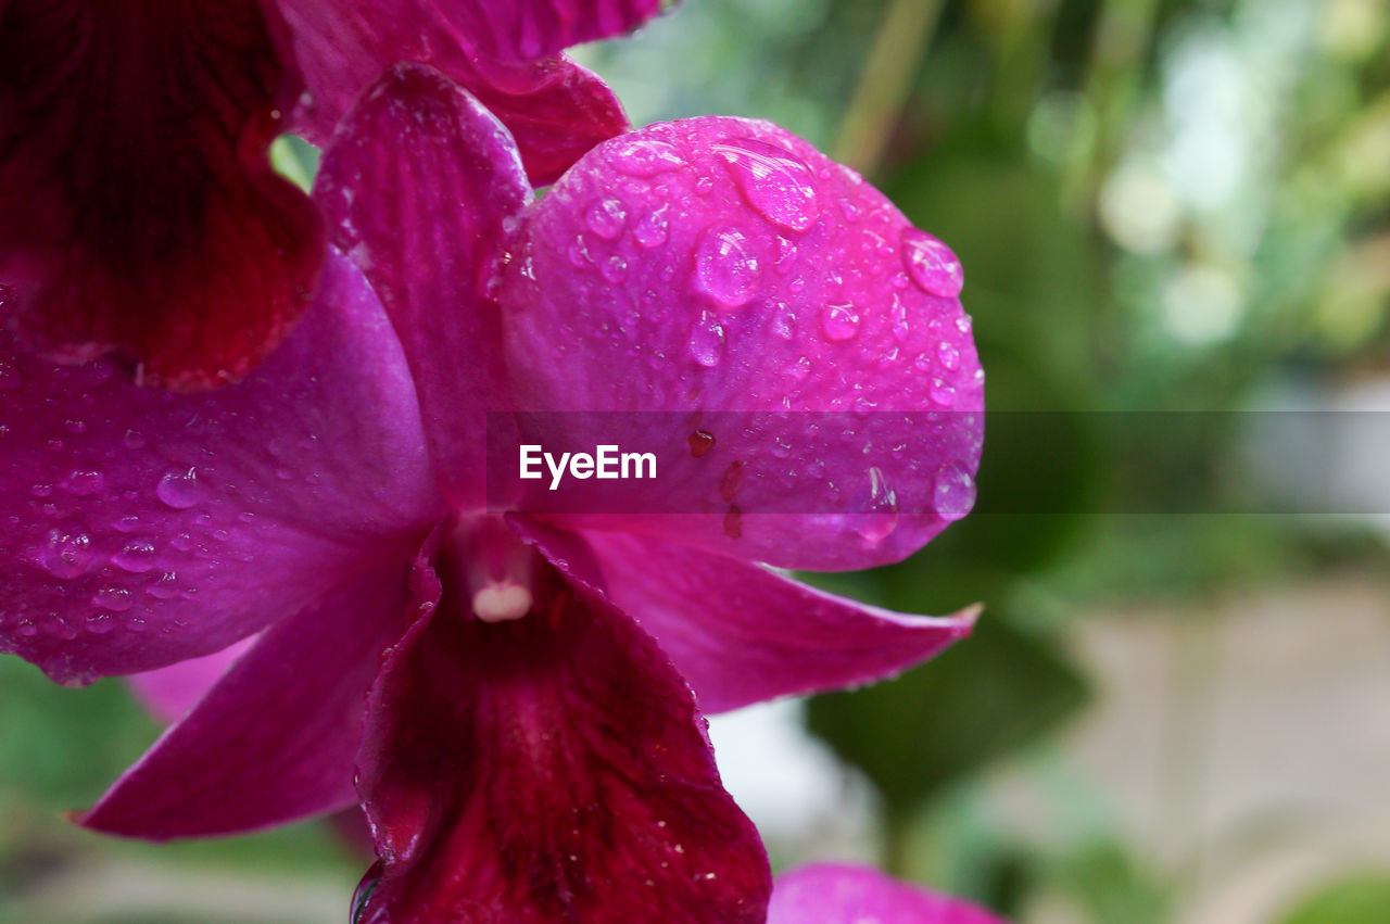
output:
{"label": "narrow upright magenta sepal between the two broad rounded petals", "polygon": [[441,486],[481,507],[484,410],[507,407],[488,281],[531,199],[512,139],[438,71],[399,65],[343,122],[314,199],[404,345]]}

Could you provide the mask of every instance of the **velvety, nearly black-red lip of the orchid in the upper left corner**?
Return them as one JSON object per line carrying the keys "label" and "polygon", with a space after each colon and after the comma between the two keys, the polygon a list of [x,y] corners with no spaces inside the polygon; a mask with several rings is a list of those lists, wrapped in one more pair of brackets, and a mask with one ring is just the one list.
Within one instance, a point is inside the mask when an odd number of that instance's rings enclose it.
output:
{"label": "velvety, nearly black-red lip of the orchid in the upper left corner", "polygon": [[6,327],[147,382],[236,379],[309,303],[310,201],[267,158],[295,96],[256,0],[0,8]]}

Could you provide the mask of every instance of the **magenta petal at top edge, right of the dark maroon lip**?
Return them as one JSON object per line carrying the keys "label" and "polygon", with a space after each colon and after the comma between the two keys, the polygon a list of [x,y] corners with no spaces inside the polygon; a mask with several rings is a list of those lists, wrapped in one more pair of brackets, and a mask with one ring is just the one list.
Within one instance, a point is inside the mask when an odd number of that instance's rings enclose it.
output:
{"label": "magenta petal at top edge, right of the dark maroon lip", "polygon": [[553,182],[587,150],[628,128],[613,92],[563,56],[489,61],[418,0],[281,0],[309,93],[295,129],[327,145],[359,94],[398,61],[436,67],[507,126],[531,181]]}

